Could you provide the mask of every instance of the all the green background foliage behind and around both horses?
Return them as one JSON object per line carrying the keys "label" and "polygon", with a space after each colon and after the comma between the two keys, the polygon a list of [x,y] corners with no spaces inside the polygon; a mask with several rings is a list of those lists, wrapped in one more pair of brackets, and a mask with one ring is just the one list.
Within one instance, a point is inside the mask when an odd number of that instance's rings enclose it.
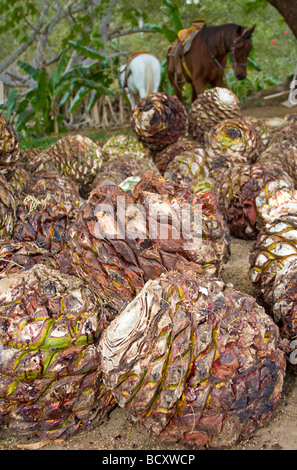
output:
{"label": "all the green background foliage behind and around both horses", "polygon": [[[113,10],[106,24],[107,42],[103,43],[101,26],[110,5]],[[58,12],[63,9],[66,14],[56,24]],[[126,59],[120,54],[139,49],[146,49],[160,59],[161,89],[172,94],[166,70],[167,49],[178,31],[189,27],[197,17],[204,17],[207,24],[257,24],[247,78],[238,82],[230,64],[227,69],[231,88],[242,101],[251,93],[283,82],[294,72],[296,38],[267,0],[76,0],[68,3],[64,0],[1,0],[0,35],[5,47],[0,51],[0,61],[27,41],[37,25],[41,25],[41,31],[52,31],[45,48],[47,60],[51,62],[55,55],[60,57],[55,65],[37,70],[32,66],[36,43],[29,47],[18,66],[35,84],[25,93],[10,90],[1,109],[17,126],[18,132],[32,131],[38,135],[61,131],[63,107],[70,105],[69,110],[74,113],[86,101],[91,110],[102,95],[118,92],[116,70]],[[108,37],[109,31],[139,26],[149,32],[120,38],[111,35],[112,40]],[[62,54],[64,49],[67,53]],[[73,50],[82,60],[87,58],[88,65],[76,65],[68,70]],[[113,54],[116,57],[112,57]],[[112,60],[107,59],[109,56]],[[190,99],[187,86],[185,96]]]}

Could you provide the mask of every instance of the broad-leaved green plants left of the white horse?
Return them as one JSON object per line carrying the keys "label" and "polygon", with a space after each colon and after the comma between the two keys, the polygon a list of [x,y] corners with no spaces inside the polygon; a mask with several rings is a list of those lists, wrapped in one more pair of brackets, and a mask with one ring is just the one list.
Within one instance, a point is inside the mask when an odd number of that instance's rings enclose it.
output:
{"label": "broad-leaved green plants left of the white horse", "polygon": [[[96,51],[78,43],[73,46],[87,57],[97,57],[100,60],[88,66],[76,66],[66,71],[70,57],[63,54],[54,74],[49,77],[47,71],[38,71],[31,64],[18,61],[18,66],[35,80],[35,85],[18,99],[17,91],[11,90],[6,105],[0,106],[5,111],[7,119],[13,122],[17,132],[25,135],[31,132],[35,135],[65,130],[61,107],[73,98],[69,112],[74,113],[79,105],[91,94],[89,110],[101,95],[111,95],[108,89],[109,60],[105,60]],[[102,61],[103,60],[103,61]]]}

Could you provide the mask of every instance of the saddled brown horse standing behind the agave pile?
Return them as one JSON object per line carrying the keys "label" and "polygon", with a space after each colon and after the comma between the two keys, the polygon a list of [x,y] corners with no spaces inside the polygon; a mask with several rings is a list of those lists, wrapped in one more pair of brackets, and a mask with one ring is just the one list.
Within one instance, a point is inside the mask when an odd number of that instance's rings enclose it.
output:
{"label": "saddled brown horse standing behind the agave pile", "polygon": [[252,50],[252,34],[255,26],[244,28],[230,23],[222,26],[203,26],[185,52],[177,39],[167,53],[167,72],[173,90],[182,101],[182,84],[192,85],[192,102],[203,93],[209,83],[221,86],[227,64],[227,56],[233,57],[233,68],[238,80],[247,75],[247,58]]}

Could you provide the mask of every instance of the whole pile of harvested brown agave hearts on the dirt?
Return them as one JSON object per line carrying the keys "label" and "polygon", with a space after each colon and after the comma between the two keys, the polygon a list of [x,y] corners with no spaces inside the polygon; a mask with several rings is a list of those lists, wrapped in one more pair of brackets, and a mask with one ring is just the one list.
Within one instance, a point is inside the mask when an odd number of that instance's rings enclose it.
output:
{"label": "whole pile of harvested brown agave hearts on the dirt", "polygon": [[[189,112],[144,98],[135,137],[104,144],[20,151],[1,117],[2,428],[66,438],[120,406],[200,449],[271,419],[297,323],[294,126],[247,122],[221,88]],[[198,245],[191,223],[176,236],[185,205],[202,207]],[[258,300],[220,279],[230,235],[255,240]]]}

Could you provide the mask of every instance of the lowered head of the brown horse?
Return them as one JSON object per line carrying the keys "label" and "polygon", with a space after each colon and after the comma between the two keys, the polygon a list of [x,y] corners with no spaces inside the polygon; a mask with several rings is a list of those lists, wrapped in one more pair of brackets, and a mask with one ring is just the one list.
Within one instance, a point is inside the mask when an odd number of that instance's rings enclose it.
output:
{"label": "lowered head of the brown horse", "polygon": [[247,58],[252,50],[252,34],[255,30],[252,28],[243,28],[239,26],[237,29],[237,37],[231,46],[231,54],[233,56],[233,68],[235,76],[238,80],[243,80],[247,75]]}

